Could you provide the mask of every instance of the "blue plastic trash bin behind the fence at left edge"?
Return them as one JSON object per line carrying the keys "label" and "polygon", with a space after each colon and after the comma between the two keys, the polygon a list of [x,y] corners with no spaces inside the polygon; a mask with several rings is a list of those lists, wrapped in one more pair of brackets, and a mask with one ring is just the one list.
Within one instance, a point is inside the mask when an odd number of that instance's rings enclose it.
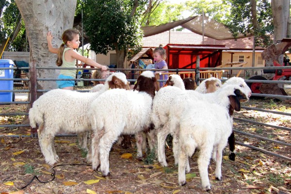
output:
{"label": "blue plastic trash bin behind the fence at left edge", "polygon": [[[13,90],[13,80],[1,80],[12,79],[13,70],[3,70],[1,68],[13,68],[13,61],[10,59],[0,59],[0,90]],[[0,102],[12,102],[13,92],[1,92]]]}

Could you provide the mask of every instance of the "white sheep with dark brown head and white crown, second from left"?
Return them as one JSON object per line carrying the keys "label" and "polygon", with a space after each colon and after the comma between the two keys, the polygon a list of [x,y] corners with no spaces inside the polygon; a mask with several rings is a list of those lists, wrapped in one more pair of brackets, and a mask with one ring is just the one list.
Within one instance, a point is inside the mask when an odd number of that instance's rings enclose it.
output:
{"label": "white sheep with dark brown head and white crown, second from left", "polygon": [[[92,115],[92,169],[103,176],[109,172],[109,152],[121,134],[140,134],[151,124],[152,99],[157,88],[157,80],[151,71],[144,71],[134,88],[139,92],[112,89],[93,101],[89,114]],[[141,137],[141,136],[139,136]],[[143,142],[137,135],[138,150]]]}

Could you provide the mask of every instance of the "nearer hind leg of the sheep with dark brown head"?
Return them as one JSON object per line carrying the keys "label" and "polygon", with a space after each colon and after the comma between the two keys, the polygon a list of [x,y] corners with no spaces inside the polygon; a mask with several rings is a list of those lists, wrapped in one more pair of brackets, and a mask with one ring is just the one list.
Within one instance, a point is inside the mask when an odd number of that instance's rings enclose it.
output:
{"label": "nearer hind leg of the sheep with dark brown head", "polygon": [[116,130],[111,130],[104,134],[102,138],[100,138],[99,142],[99,154],[100,154],[100,168],[99,171],[102,173],[102,176],[110,176],[109,171],[109,152],[111,150],[111,147],[118,139],[118,136],[120,134],[116,134]]}

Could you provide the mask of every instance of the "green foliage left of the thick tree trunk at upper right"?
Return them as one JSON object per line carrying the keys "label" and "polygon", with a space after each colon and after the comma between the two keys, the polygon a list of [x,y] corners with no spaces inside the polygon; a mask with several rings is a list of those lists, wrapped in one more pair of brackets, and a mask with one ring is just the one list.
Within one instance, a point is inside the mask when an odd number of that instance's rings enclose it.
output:
{"label": "green foliage left of the thick tree trunk at upper right", "polygon": [[267,0],[257,0],[257,22],[258,27],[254,26],[251,15],[250,0],[223,0],[229,5],[230,20],[226,26],[236,37],[239,33],[254,34],[256,37],[256,46],[270,45],[270,35],[273,34],[274,26],[272,19],[272,8]]}

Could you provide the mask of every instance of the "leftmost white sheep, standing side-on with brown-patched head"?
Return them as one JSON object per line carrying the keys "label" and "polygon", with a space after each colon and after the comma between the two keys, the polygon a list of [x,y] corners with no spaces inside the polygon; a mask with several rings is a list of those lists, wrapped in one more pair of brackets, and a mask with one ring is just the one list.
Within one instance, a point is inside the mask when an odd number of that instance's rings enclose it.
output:
{"label": "leftmost white sheep, standing side-on with brown-patched head", "polygon": [[[49,165],[59,159],[54,147],[57,133],[81,133],[91,129],[90,103],[109,88],[129,89],[124,73],[113,73],[99,92],[83,93],[65,89],[52,89],[40,96],[29,110],[30,125],[38,128],[41,151]],[[85,136],[86,139],[87,136]],[[83,142],[84,147],[87,142]]]}

